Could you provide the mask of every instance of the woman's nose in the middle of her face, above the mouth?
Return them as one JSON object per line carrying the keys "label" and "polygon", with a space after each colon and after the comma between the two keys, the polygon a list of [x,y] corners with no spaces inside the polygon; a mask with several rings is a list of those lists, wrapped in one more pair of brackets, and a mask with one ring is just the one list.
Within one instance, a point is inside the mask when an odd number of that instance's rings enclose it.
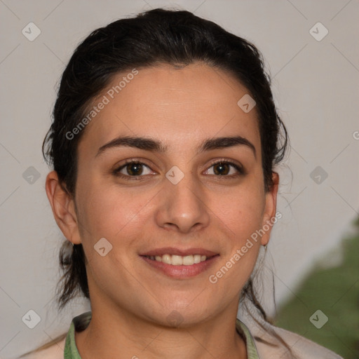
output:
{"label": "woman's nose in the middle of her face, above the mouth", "polygon": [[205,191],[194,176],[186,174],[177,183],[165,179],[156,211],[158,226],[170,231],[198,231],[210,222]]}

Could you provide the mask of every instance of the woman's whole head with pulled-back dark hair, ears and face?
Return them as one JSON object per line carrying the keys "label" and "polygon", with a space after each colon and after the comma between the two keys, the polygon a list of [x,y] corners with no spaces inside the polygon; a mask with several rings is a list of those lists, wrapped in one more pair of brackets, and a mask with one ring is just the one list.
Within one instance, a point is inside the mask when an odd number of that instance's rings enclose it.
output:
{"label": "woman's whole head with pulled-back dark hair, ears and face", "polygon": [[[187,11],[118,20],[76,49],[53,116],[46,189],[75,244],[60,304],[89,286],[93,309],[161,323],[238,305],[269,241],[286,144],[255,46]],[[153,258],[167,254],[188,256]],[[196,255],[211,259],[161,267]]]}

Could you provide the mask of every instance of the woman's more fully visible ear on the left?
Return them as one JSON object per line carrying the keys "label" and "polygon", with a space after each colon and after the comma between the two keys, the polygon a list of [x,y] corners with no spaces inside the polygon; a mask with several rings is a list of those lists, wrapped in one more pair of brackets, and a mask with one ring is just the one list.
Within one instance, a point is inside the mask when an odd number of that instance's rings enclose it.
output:
{"label": "woman's more fully visible ear on the left", "polygon": [[46,177],[46,194],[57,226],[70,242],[80,244],[81,237],[74,199],[61,186],[55,171],[50,172]]}

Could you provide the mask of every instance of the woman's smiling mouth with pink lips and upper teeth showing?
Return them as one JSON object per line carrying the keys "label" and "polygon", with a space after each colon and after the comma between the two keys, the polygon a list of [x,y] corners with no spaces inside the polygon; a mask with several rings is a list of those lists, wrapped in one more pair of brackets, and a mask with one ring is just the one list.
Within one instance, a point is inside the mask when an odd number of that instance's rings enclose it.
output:
{"label": "woman's smiling mouth with pink lips and upper teeth showing", "polygon": [[179,250],[177,248],[160,248],[140,255],[156,273],[175,279],[187,279],[203,271],[217,262],[219,254],[203,248]]}

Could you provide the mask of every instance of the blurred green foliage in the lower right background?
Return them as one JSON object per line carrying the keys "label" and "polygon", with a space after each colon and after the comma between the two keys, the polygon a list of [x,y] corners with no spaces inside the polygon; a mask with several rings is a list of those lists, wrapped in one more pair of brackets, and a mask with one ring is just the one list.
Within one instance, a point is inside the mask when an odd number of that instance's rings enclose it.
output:
{"label": "blurred green foliage in the lower right background", "polygon": [[[342,242],[343,262],[330,269],[317,265],[295,296],[281,306],[276,320],[278,327],[346,359],[359,358],[359,219],[355,224],[356,235]],[[328,317],[320,329],[309,320],[318,309]]]}

